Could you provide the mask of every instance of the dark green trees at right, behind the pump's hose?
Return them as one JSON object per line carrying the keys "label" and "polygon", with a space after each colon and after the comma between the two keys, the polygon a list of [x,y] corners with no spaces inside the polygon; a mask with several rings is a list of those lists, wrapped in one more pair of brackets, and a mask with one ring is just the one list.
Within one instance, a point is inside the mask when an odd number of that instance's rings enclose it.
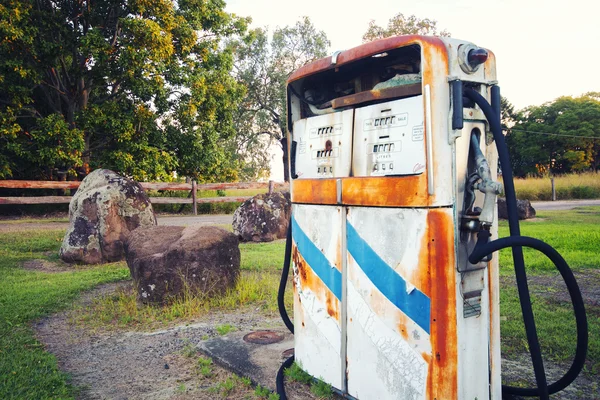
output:
{"label": "dark green trees at right, behind the pump's hose", "polygon": [[600,163],[598,94],[564,96],[516,112],[506,142],[516,176],[597,170]]}

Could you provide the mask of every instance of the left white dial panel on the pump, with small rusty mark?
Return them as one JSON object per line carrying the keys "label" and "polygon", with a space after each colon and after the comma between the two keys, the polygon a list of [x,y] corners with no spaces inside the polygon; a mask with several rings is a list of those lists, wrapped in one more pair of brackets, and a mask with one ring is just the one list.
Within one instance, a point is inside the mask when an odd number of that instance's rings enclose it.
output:
{"label": "left white dial panel on the pump, with small rusty mark", "polygon": [[294,122],[298,179],[350,176],[353,114],[346,110]]}

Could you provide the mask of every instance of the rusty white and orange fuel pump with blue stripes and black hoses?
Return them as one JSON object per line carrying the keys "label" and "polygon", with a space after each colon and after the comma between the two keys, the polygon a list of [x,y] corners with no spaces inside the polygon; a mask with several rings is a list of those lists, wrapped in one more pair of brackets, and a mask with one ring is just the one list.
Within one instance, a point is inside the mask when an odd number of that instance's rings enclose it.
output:
{"label": "rusty white and orange fuel pump with blue stripes and black hoses", "polygon": [[[293,360],[354,399],[500,399],[562,390],[587,351],[563,258],[520,236],[494,55],[400,36],[337,52],[288,80],[292,217],[279,305]],[[491,104],[490,104],[491,103]],[[498,159],[510,236],[497,238]],[[522,246],[562,274],[577,321],[573,365],[546,382]],[[537,388],[503,387],[498,258],[512,247]],[[294,315],[283,293],[293,269]]]}

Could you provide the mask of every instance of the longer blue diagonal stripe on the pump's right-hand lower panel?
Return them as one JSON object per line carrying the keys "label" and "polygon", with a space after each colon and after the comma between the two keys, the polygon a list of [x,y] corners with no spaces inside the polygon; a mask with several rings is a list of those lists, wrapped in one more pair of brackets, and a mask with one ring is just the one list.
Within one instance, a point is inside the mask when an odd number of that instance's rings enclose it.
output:
{"label": "longer blue diagonal stripe on the pump's right-hand lower panel", "polygon": [[406,281],[347,224],[348,251],[358,266],[389,301],[429,334],[431,300],[419,289],[406,292]]}

